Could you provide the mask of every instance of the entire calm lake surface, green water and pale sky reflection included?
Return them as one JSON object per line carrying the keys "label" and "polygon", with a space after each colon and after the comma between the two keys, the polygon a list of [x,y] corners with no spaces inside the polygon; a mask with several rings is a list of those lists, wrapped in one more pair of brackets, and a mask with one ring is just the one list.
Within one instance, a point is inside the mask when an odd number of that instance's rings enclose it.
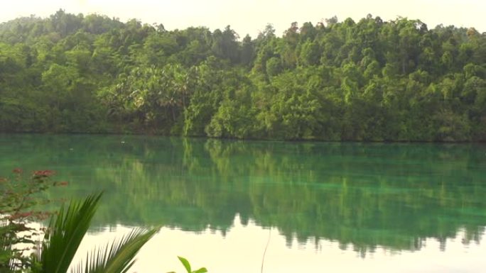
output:
{"label": "entire calm lake surface, green water and pale sky reflection included", "polygon": [[70,182],[52,196],[104,190],[80,258],[162,225],[132,272],[486,272],[486,145],[0,135],[0,155]]}

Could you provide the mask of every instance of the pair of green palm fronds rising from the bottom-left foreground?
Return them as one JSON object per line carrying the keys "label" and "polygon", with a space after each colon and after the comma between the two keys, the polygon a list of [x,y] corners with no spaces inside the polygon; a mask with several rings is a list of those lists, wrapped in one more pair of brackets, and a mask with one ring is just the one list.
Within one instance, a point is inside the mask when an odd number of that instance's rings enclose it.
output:
{"label": "pair of green palm fronds rising from the bottom-left foreground", "polygon": [[[63,206],[58,216],[52,218],[40,250],[33,262],[33,273],[67,273],[72,258],[80,246],[82,238],[90,228],[90,223],[102,194],[88,196],[84,201],[71,201]],[[124,273],[134,264],[134,257],[141,247],[157,232],[133,230],[128,235],[99,247],[86,257],[85,264],[72,267],[72,273]]]}

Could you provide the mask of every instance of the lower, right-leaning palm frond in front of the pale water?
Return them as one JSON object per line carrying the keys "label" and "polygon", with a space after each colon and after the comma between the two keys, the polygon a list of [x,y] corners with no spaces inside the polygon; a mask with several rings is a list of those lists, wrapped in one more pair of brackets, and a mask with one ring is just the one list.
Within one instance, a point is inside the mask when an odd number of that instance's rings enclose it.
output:
{"label": "lower, right-leaning palm frond in front of the pale water", "polygon": [[152,230],[132,230],[113,243],[88,254],[85,261],[85,268],[82,269],[83,262],[71,270],[72,273],[124,273],[134,264],[134,257],[137,252],[147,243],[157,232],[158,228]]}

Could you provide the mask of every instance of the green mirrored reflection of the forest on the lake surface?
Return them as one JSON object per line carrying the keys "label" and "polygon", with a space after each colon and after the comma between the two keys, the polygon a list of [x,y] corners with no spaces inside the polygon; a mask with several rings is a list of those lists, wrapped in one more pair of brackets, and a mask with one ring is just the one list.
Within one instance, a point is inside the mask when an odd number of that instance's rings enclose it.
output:
{"label": "green mirrored reflection of the forest on the lake surface", "polygon": [[23,135],[7,147],[5,138],[0,151],[15,155],[2,171],[27,162],[57,169],[75,195],[105,189],[99,225],[225,233],[239,214],[288,241],[325,238],[360,252],[445,244],[460,228],[465,243],[479,242],[486,225],[482,145]]}

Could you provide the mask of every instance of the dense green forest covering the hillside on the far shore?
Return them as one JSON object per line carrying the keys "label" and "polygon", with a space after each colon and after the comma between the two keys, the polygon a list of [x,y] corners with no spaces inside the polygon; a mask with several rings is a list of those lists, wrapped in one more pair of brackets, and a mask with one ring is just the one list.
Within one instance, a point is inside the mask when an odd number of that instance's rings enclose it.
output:
{"label": "dense green forest covering the hillside on the far shore", "polygon": [[166,30],[57,11],[0,24],[0,131],[486,140],[486,33],[419,20]]}

